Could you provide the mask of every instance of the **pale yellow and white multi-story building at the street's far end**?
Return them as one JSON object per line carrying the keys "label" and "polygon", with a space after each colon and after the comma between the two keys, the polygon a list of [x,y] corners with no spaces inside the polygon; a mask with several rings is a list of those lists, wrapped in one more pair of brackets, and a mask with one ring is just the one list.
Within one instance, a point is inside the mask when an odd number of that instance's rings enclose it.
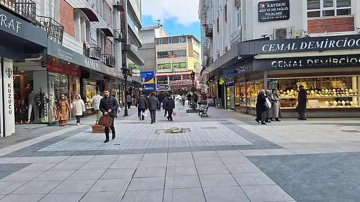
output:
{"label": "pale yellow and white multi-story building at the street's far end", "polygon": [[156,47],[156,84],[170,85],[174,94],[190,92],[190,74],[196,74],[194,86],[198,85],[200,75],[200,42],[193,35],[169,36],[155,39]]}

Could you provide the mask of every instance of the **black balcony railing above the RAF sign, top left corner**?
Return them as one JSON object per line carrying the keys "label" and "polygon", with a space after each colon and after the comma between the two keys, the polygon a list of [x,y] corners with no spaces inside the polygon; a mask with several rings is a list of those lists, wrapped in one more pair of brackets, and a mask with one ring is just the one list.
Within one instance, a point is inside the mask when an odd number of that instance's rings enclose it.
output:
{"label": "black balcony railing above the RAF sign, top left corner", "polygon": [[0,5],[18,13],[31,22],[36,22],[36,3],[32,0],[0,0]]}

